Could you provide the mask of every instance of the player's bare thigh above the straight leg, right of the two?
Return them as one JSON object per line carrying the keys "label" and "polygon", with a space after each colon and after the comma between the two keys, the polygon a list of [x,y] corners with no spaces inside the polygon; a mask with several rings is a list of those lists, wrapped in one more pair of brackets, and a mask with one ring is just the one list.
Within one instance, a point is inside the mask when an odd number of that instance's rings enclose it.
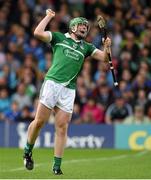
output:
{"label": "player's bare thigh above the straight leg, right of the two", "polygon": [[71,121],[72,113],[66,112],[58,107],[55,107],[55,126],[68,127]]}

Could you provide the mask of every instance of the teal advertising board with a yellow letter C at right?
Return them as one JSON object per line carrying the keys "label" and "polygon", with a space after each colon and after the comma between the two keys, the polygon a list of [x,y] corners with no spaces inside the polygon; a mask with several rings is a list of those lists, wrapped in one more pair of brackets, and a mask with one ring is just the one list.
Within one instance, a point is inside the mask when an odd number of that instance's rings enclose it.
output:
{"label": "teal advertising board with a yellow letter C at right", "polygon": [[116,125],[115,148],[151,150],[151,125]]}

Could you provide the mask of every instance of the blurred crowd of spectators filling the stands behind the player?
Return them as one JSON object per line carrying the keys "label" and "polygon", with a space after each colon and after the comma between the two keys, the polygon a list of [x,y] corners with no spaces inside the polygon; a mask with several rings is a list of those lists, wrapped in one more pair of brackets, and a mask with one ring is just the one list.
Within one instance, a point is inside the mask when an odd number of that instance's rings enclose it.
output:
{"label": "blurred crowd of spectators filling the stands behind the player", "polygon": [[[91,57],[77,80],[72,123],[151,123],[151,1],[148,0],[0,0],[0,120],[29,122],[35,116],[39,90],[51,66],[51,44],[33,31],[52,8],[51,31],[68,31],[73,17],[91,25],[86,38],[102,49],[96,17],[107,20],[112,60],[119,88],[109,65]],[[54,122],[52,113],[49,122]]]}

